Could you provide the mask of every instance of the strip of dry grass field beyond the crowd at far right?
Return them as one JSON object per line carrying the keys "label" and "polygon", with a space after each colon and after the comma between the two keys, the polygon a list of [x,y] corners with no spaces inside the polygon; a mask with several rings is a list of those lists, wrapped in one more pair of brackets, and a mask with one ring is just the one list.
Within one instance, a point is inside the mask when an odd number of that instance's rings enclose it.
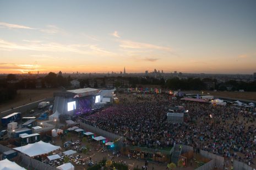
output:
{"label": "strip of dry grass field beyond the crowd at far right", "polygon": [[[193,94],[200,94],[201,91],[188,91]],[[235,91],[204,91],[203,95],[213,95],[216,97],[229,97],[229,98],[237,98],[237,99],[244,99],[244,100],[254,100],[256,101],[256,92],[235,92]]]}

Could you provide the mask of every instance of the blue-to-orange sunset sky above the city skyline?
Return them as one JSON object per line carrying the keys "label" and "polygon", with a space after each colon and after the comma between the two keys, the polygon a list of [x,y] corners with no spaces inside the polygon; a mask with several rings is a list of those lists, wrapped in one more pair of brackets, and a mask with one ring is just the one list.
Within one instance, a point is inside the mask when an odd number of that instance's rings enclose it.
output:
{"label": "blue-to-orange sunset sky above the city skyline", "polygon": [[2,1],[0,73],[256,72],[256,1]]}

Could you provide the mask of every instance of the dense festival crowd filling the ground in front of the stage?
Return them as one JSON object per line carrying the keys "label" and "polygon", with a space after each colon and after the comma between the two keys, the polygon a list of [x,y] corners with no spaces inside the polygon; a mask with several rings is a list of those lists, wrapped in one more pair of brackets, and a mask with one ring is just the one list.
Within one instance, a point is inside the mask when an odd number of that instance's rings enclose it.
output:
{"label": "dense festival crowd filling the ground in front of the stage", "polygon": [[[172,100],[166,94],[148,95],[144,100],[132,95],[124,96],[119,105],[86,116],[83,121],[126,137],[124,142],[128,145],[161,149],[184,144],[197,150],[254,163],[255,115],[249,111],[231,106]],[[188,110],[184,122],[168,122],[168,109],[181,105]]]}

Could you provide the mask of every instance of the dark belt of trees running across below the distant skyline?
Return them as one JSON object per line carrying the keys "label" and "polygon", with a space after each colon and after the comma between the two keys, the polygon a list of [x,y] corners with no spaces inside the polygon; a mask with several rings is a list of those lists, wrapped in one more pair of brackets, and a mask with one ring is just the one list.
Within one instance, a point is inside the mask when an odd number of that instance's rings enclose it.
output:
{"label": "dark belt of trees running across below the distant skyline", "polygon": [[[99,79],[99,78],[97,78]],[[139,85],[160,85],[163,89],[172,89],[172,90],[218,90],[218,91],[256,91],[256,80],[252,82],[228,80],[225,83],[218,82],[216,79],[200,79],[200,78],[170,78],[165,80],[164,78],[152,78],[149,76],[146,77],[104,77],[101,78],[105,83],[108,79],[113,80],[128,80],[129,87],[138,87]],[[34,78],[34,79],[22,79],[17,81],[15,74],[8,74],[6,78],[0,80],[0,102],[13,99],[17,95],[17,89],[34,89],[37,86],[46,88],[46,87],[69,87],[70,75],[63,77],[62,73],[58,74],[50,72],[43,78]],[[86,85],[89,85],[89,78],[79,79],[80,87],[83,88]],[[213,83],[214,87],[207,89],[206,83]],[[127,87],[122,86],[118,81],[114,84],[115,87]]]}

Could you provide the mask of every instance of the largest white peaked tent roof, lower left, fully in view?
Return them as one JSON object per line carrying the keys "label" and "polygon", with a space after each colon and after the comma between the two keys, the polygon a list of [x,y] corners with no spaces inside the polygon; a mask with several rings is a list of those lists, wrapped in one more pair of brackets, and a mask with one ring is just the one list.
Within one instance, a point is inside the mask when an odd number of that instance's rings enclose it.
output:
{"label": "largest white peaked tent roof, lower left, fully in view", "polygon": [[34,144],[28,144],[25,146],[14,147],[14,150],[20,151],[30,157],[42,155],[60,149],[61,147],[46,143],[43,141],[35,142]]}

